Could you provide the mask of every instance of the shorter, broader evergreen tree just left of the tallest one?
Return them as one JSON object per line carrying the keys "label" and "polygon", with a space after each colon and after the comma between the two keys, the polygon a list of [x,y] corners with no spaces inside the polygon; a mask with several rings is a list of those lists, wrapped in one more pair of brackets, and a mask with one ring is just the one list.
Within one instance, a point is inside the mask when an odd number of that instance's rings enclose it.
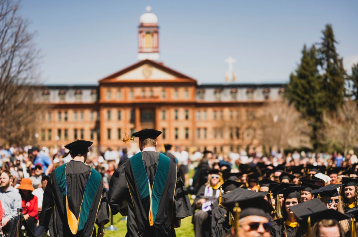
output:
{"label": "shorter, broader evergreen tree just left of the tallest one", "polygon": [[324,93],[322,91],[322,77],[318,71],[317,50],[306,45],[302,50],[301,63],[295,73],[290,75],[286,96],[296,109],[311,121],[311,141],[316,149],[319,146],[318,131],[322,125],[324,110]]}

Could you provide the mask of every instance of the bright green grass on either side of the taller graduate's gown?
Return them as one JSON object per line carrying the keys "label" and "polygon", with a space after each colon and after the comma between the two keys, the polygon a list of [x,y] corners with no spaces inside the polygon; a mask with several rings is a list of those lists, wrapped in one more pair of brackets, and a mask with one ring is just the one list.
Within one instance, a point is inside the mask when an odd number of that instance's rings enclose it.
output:
{"label": "bright green grass on either side of the taller graduate's gown", "polygon": [[[120,213],[113,216],[113,226],[117,227],[117,231],[105,230],[106,237],[114,237],[114,236],[125,236],[127,233],[127,221],[121,220],[123,217]],[[176,236],[178,237],[194,237],[194,230],[192,217],[189,216],[182,220],[182,225],[179,228],[175,229]],[[106,225],[106,227],[110,226],[110,223]]]}

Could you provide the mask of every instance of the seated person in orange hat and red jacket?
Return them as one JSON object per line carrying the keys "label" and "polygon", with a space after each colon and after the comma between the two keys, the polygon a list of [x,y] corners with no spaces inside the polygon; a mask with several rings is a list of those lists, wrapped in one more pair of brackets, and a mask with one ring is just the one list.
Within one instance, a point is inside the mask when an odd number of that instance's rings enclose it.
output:
{"label": "seated person in orange hat and red jacket", "polygon": [[27,231],[35,233],[36,224],[38,221],[38,201],[37,197],[32,194],[34,187],[32,186],[32,180],[29,178],[23,178],[20,186],[17,187],[21,195],[21,207],[23,208],[24,219],[27,223]]}

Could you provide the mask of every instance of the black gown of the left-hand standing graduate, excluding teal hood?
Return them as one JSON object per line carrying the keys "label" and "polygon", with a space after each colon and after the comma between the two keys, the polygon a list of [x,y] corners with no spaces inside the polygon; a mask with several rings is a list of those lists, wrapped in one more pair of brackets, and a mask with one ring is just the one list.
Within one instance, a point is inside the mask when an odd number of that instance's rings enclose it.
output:
{"label": "black gown of the left-hand standing graduate, excluding teal hood", "polygon": [[[70,161],[66,166],[68,204],[77,218],[90,172],[91,167],[80,161]],[[53,172],[44,191],[40,226],[45,226],[51,237],[95,236],[95,223],[98,225],[102,221],[105,224],[109,222],[108,201],[102,179],[97,192],[93,195],[95,198],[86,225],[83,230],[73,235],[67,222],[65,198],[62,197]]]}

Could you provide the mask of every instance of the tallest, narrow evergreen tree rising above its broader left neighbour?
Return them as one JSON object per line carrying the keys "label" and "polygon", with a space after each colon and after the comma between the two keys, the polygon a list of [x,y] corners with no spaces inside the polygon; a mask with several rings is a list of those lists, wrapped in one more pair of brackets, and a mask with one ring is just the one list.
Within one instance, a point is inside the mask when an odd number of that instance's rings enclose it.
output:
{"label": "tallest, narrow evergreen tree rising above its broader left neighbour", "polygon": [[343,59],[336,51],[332,25],[327,24],[322,31],[323,37],[320,44],[319,64],[324,71],[322,75],[322,89],[325,93],[325,107],[328,111],[337,111],[343,105],[345,94],[345,70]]}

